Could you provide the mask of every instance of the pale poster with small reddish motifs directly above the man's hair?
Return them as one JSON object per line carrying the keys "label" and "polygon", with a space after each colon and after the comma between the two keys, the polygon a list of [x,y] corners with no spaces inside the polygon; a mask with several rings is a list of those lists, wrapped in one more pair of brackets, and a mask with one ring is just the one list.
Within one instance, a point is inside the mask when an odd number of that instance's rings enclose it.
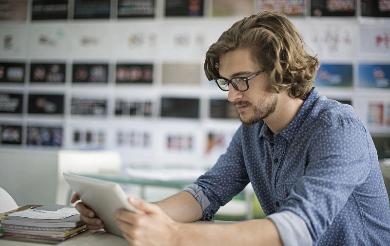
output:
{"label": "pale poster with small reddish motifs directly above the man's hair", "polygon": [[305,2],[305,0],[257,0],[257,12],[276,10],[288,16],[305,16]]}

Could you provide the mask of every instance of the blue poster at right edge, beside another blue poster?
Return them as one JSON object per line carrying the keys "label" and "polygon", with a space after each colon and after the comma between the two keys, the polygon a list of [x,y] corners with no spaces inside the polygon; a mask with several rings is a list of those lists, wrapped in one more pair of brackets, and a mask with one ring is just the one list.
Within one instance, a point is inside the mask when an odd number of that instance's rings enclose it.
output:
{"label": "blue poster at right edge, beside another blue poster", "polygon": [[390,65],[358,64],[358,85],[390,89]]}

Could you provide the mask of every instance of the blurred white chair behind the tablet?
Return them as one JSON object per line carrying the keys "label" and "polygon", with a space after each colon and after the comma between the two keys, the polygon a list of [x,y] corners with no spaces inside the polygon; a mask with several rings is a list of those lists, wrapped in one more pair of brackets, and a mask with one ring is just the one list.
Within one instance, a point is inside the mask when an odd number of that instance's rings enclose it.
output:
{"label": "blurred white chair behind the tablet", "polygon": [[72,189],[63,178],[64,172],[72,173],[117,173],[122,158],[110,150],[59,150],[56,204],[70,204]]}

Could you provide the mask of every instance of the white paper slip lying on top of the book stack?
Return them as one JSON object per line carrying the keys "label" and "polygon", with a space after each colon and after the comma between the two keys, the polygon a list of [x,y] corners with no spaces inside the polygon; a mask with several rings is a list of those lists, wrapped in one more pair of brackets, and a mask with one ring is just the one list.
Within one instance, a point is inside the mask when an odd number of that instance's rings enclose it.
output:
{"label": "white paper slip lying on top of the book stack", "polygon": [[50,219],[50,220],[60,220],[67,218],[69,216],[79,214],[76,208],[61,208],[57,211],[46,211],[39,209],[28,209],[20,212],[10,214],[12,216],[19,216],[31,219]]}

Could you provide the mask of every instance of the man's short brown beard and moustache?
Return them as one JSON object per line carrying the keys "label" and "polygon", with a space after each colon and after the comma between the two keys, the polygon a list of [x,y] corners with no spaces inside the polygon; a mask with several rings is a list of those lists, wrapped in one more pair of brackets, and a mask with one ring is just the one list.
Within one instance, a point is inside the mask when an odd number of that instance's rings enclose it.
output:
{"label": "man's short brown beard and moustache", "polygon": [[268,96],[265,99],[258,102],[257,105],[253,105],[252,103],[248,101],[237,101],[234,102],[234,106],[252,106],[252,109],[254,111],[253,115],[249,118],[245,118],[245,114],[248,114],[247,112],[239,113],[240,121],[245,126],[253,126],[257,122],[260,122],[261,120],[264,120],[265,118],[269,117],[276,109],[277,105],[277,96]]}

